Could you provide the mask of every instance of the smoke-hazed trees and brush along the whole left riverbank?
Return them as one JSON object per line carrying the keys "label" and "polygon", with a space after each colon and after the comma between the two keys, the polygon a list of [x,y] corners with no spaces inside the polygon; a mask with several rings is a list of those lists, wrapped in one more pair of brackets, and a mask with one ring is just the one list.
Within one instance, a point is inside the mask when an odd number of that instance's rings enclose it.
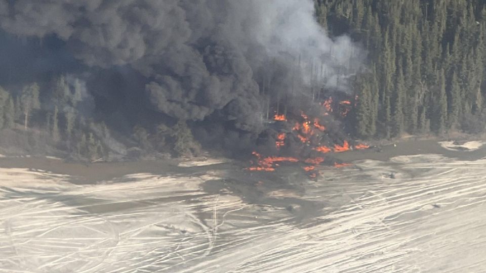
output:
{"label": "smoke-hazed trees and brush along the whole left riverbank", "polygon": [[[155,128],[136,125],[133,135],[115,140],[102,121],[83,112],[93,102],[85,82],[72,76],[39,86],[26,83],[12,92],[0,86],[0,146],[22,146],[36,153],[61,152],[74,160],[111,160],[113,156],[199,155],[201,148],[185,121]],[[25,142],[15,139],[26,139]],[[2,148],[3,148],[2,147]],[[58,153],[59,155],[62,155]]]}

